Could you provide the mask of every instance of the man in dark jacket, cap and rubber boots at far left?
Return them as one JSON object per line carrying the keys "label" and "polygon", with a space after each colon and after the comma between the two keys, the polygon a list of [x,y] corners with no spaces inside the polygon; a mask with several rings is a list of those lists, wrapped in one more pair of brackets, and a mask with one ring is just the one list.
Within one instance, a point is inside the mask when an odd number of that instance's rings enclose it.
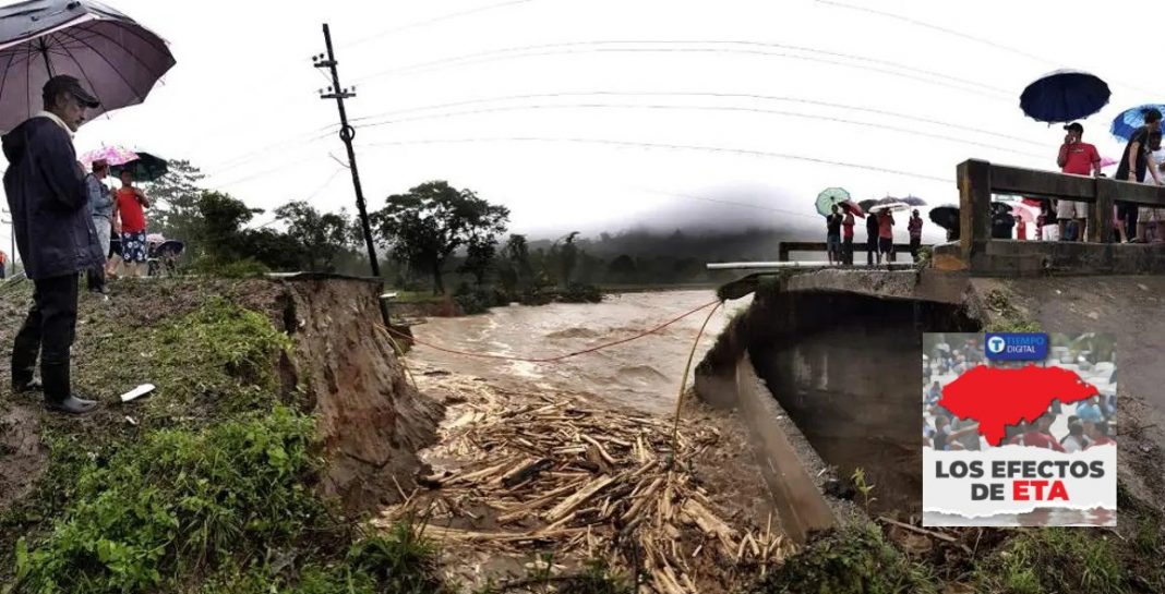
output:
{"label": "man in dark jacket, cap and rubber boots at far left", "polygon": [[78,273],[101,266],[97,231],[89,210],[85,171],[72,134],[97,99],[70,76],[44,84],[44,111],[3,135],[8,170],[3,176],[16,247],[35,283],[33,307],[12,351],[16,391],[41,388],[33,379],[41,356],[45,404],[71,413],[97,408],[72,394],[69,349],[77,327]]}

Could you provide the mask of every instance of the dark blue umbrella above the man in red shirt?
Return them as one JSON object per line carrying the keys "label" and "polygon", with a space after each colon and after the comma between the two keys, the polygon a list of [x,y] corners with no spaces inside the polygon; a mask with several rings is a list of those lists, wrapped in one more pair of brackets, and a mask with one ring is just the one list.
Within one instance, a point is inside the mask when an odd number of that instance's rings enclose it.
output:
{"label": "dark blue umbrella above the man in red shirt", "polygon": [[1101,111],[1111,96],[1108,84],[1095,75],[1057,70],[1024,89],[1019,108],[1036,121],[1067,123]]}

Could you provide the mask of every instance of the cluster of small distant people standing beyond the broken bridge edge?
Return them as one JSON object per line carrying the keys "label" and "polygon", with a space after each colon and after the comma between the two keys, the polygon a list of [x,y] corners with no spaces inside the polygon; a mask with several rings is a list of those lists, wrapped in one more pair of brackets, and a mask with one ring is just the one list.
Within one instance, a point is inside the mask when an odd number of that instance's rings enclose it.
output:
{"label": "cluster of small distant people standing beyond the broken bridge edge", "polygon": [[[825,218],[825,246],[831,266],[854,264],[854,226],[856,218],[848,204],[835,204],[833,211]],[[866,264],[897,262],[897,249],[894,243],[896,221],[890,210],[866,215]],[[923,218],[916,208],[906,221],[910,234],[910,256],[918,262],[918,250],[923,243]]]}

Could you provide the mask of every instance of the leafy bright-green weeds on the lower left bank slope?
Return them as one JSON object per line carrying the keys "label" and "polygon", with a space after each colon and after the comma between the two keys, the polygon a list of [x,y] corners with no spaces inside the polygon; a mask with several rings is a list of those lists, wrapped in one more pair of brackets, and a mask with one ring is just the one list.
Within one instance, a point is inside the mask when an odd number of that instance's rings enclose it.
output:
{"label": "leafy bright-green weeds on the lower left bank slope", "polygon": [[203,430],[161,430],[80,469],[73,503],[44,542],[17,544],[29,592],[176,587],[232,559],[291,544],[324,508],[311,417],[285,408]]}

